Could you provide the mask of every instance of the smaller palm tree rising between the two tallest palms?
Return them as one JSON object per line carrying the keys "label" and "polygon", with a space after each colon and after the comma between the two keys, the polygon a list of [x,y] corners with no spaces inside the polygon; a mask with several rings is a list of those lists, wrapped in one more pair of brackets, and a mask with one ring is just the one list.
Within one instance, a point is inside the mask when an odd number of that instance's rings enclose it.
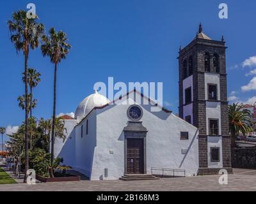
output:
{"label": "smaller palm tree rising between the two tallest palms", "polygon": [[[23,82],[26,82],[25,80],[25,73],[23,73],[22,80]],[[29,91],[30,91],[30,107],[29,107],[29,112],[30,112],[30,117],[32,117],[32,103],[33,103],[33,88],[38,85],[39,82],[41,82],[41,74],[36,71],[36,69],[29,68],[28,69],[28,85],[29,85]]]}

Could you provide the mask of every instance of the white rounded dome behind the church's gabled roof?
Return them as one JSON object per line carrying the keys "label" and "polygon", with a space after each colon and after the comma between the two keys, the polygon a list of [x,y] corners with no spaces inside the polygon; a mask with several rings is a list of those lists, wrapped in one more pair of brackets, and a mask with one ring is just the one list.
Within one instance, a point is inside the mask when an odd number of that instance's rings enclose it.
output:
{"label": "white rounded dome behind the church's gabled roof", "polygon": [[93,108],[107,105],[109,99],[95,91],[94,94],[86,97],[76,109],[75,118],[83,119]]}

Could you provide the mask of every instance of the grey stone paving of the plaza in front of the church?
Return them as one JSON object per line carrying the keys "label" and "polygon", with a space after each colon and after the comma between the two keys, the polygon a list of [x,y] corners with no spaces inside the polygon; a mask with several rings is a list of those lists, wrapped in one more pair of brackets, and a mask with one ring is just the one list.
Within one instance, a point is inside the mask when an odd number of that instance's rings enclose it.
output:
{"label": "grey stone paving of the plaza in front of the church", "polygon": [[256,170],[235,169],[228,185],[218,183],[219,175],[144,181],[104,180],[80,182],[0,185],[0,191],[256,191]]}

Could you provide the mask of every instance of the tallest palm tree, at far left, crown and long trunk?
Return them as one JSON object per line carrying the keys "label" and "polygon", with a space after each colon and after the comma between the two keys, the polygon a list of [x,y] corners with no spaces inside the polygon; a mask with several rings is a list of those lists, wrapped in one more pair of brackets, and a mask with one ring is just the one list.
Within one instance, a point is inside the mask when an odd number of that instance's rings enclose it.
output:
{"label": "tallest palm tree, at far left, crown and long trunk", "polygon": [[20,10],[14,12],[12,20],[8,20],[8,27],[11,33],[10,40],[15,46],[17,52],[22,51],[25,58],[24,64],[24,80],[25,80],[25,177],[26,182],[26,171],[29,168],[29,157],[28,157],[28,59],[29,50],[34,50],[39,45],[39,40],[44,33],[44,25],[38,23],[38,17],[27,18],[26,11]]}

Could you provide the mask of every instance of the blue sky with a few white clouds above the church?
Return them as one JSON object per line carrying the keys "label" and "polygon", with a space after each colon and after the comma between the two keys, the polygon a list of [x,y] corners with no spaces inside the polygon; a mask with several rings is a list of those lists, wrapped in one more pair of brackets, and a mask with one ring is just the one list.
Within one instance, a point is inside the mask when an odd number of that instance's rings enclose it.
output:
{"label": "blue sky with a few white clouds above the church", "polygon": [[[225,1],[228,19],[218,18],[223,1],[170,0],[58,0],[0,2],[0,126],[24,120],[17,97],[24,93],[21,73],[24,57],[17,55],[6,25],[12,12],[36,4],[40,22],[63,30],[72,50],[58,69],[57,113],[75,112],[93,92],[96,82],[163,82],[164,106],[177,112],[179,46],[195,38],[199,22],[214,40],[227,41],[228,96],[230,101],[256,101],[256,2]],[[251,57],[251,58],[250,58]],[[53,66],[32,51],[29,66],[42,73],[35,89],[36,117],[51,117]],[[254,98],[253,98],[254,97]]]}

